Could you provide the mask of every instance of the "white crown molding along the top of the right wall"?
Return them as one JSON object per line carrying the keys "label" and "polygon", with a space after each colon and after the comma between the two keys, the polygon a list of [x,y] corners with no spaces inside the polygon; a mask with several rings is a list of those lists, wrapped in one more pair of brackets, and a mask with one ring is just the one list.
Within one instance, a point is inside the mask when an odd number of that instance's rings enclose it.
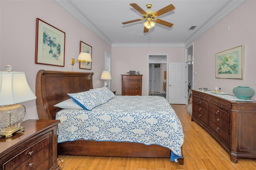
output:
{"label": "white crown molding along the top of the right wall", "polygon": [[195,32],[190,38],[188,38],[184,44],[188,45],[192,43],[196,38],[206,32],[209,28],[214,26],[217,22],[222,20],[230,12],[235,10],[238,6],[244,3],[246,0],[231,0],[224,8],[222,8],[214,17],[212,17],[206,24],[204,24],[197,32]]}

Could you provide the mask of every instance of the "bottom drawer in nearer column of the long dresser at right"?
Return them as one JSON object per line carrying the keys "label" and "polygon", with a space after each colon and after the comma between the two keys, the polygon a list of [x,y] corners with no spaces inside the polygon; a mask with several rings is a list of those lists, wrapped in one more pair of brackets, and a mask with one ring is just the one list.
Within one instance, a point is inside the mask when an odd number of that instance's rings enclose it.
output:
{"label": "bottom drawer in nearer column of the long dresser at right", "polygon": [[216,136],[223,140],[229,146],[229,134],[226,130],[222,129],[220,126],[216,125],[215,122],[209,121],[209,127]]}

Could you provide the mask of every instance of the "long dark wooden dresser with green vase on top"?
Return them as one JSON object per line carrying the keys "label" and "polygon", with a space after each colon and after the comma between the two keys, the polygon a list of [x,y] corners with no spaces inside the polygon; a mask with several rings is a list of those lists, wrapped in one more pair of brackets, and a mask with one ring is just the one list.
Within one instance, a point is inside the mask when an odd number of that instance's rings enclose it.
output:
{"label": "long dark wooden dresser with green vase on top", "polygon": [[234,163],[239,158],[256,158],[256,101],[236,99],[192,90],[191,120],[209,132]]}

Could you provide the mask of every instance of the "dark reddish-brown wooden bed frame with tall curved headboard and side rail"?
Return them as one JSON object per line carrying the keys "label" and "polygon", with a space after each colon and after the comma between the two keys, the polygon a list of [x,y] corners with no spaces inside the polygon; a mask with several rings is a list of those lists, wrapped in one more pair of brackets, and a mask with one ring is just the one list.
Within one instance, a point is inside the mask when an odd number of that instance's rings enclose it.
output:
{"label": "dark reddish-brown wooden bed frame with tall curved headboard and side rail", "polygon": [[[36,107],[39,119],[55,119],[60,109],[54,105],[70,99],[67,93],[93,89],[93,74],[39,70],[36,75]],[[170,158],[170,150],[159,145],[81,139],[58,143],[58,155]],[[183,164],[184,158],[178,161]]]}

